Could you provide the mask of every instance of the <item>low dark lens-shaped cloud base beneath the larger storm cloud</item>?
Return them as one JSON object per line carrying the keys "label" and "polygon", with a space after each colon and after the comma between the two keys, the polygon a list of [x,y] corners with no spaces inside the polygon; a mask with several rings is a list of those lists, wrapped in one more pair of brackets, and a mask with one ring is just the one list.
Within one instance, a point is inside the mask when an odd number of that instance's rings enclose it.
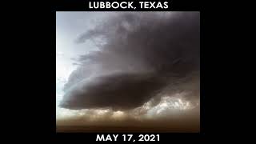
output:
{"label": "low dark lens-shaped cloud base beneath the larger storm cloud", "polygon": [[89,84],[83,84],[78,90],[71,90],[70,95],[66,95],[68,102],[62,103],[62,106],[74,109],[97,106],[111,106],[119,110],[130,109],[134,106],[141,106],[154,95],[154,91],[161,90],[162,86],[166,86],[166,82],[154,75],[101,76],[94,78]]}

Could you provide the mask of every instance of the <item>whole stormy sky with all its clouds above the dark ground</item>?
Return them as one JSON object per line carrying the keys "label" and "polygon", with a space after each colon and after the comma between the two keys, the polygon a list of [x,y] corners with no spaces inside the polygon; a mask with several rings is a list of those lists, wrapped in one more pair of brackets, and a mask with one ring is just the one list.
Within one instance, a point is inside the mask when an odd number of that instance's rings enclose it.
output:
{"label": "whole stormy sky with all its clouds above the dark ground", "polygon": [[198,14],[56,12],[57,126],[198,126]]}

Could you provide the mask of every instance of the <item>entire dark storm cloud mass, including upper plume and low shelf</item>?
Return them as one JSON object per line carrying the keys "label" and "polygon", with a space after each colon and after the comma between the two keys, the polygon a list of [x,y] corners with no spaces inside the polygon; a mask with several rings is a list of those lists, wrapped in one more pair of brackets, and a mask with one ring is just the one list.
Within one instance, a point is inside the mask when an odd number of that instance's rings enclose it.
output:
{"label": "entire dark storm cloud mass, including upper plume and low shelf", "polygon": [[99,50],[79,58],[60,106],[127,110],[161,91],[198,91],[185,84],[194,85],[192,73],[198,78],[199,22],[198,12],[121,13],[82,34],[78,43]]}

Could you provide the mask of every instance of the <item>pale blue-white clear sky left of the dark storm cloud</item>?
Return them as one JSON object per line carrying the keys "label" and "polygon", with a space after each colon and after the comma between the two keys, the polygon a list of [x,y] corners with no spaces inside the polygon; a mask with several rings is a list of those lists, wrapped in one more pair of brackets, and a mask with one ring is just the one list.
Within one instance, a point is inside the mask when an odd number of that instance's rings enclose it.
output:
{"label": "pale blue-white clear sky left of the dark storm cloud", "polygon": [[56,116],[69,113],[58,105],[62,100],[64,84],[75,70],[79,55],[97,50],[93,42],[78,44],[79,34],[94,28],[95,23],[107,18],[108,14],[84,12],[56,12]]}

